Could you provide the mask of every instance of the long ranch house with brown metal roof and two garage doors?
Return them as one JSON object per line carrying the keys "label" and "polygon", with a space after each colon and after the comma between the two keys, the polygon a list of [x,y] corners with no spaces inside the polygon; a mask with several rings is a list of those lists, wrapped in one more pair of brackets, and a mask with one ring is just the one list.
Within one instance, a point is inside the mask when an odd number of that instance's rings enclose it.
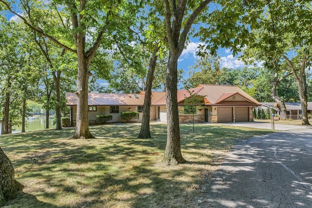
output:
{"label": "long ranch house with brown metal roof and two garage doors", "polygon": [[[198,87],[189,90],[193,95],[205,96],[204,105],[198,106],[194,116],[195,122],[229,123],[254,121],[253,108],[261,104],[253,97],[245,93],[237,86],[199,84]],[[150,120],[167,122],[166,93],[152,92],[152,106]],[[179,122],[192,123],[193,114],[185,114],[184,100],[190,97],[187,90],[177,92],[179,109]],[[76,124],[77,95],[66,93],[67,105],[71,107],[71,123]],[[112,114],[110,122],[122,122],[120,113],[136,111],[142,120],[142,107],[144,104],[144,92],[140,94],[105,94],[89,93],[89,121],[96,123],[96,115]],[[134,119],[133,121],[136,121]]]}

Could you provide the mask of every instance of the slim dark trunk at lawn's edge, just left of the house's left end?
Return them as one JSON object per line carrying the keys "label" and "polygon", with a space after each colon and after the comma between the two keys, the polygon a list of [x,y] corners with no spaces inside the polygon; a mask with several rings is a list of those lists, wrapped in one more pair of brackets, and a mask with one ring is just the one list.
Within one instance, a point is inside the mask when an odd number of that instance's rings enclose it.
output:
{"label": "slim dark trunk at lawn's edge, just left of the house's left end", "polygon": [[56,95],[56,101],[57,101],[57,106],[56,106],[56,118],[57,118],[57,123],[56,123],[56,130],[61,130],[62,129],[62,121],[61,121],[61,99],[60,99],[60,71],[57,71],[57,74],[55,72],[53,74],[53,79],[54,79],[54,84],[55,84],[55,95]]}

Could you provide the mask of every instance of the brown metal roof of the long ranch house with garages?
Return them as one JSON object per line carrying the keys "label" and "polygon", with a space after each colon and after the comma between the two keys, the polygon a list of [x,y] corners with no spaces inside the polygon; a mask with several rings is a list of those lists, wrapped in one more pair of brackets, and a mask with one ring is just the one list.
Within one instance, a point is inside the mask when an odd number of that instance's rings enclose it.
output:
{"label": "brown metal roof of the long ranch house with garages", "polygon": [[[206,105],[261,105],[252,96],[245,93],[237,86],[199,84],[198,87],[189,90],[177,91],[178,103],[192,95],[205,96]],[[114,94],[114,93],[88,93],[89,105],[110,106],[141,106],[144,104],[145,92],[140,94]],[[166,105],[165,92],[152,92],[152,105]],[[234,96],[237,96],[234,99]],[[67,105],[77,105],[77,95],[66,93]]]}

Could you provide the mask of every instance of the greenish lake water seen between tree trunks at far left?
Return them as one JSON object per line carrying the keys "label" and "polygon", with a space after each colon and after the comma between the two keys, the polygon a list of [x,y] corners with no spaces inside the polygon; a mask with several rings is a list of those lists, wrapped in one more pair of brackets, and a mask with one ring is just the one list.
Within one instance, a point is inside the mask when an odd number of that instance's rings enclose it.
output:
{"label": "greenish lake water seen between tree trunks at far left", "polygon": [[[45,129],[45,118],[39,118],[39,119],[27,119],[27,126],[25,126],[25,131],[26,132],[31,132],[31,131],[37,131],[37,130],[43,130]],[[55,128],[55,126],[52,125],[53,119],[49,119],[49,128]],[[12,133],[19,133],[21,132],[21,126],[13,126]],[[0,124],[0,134],[1,134],[1,124]]]}

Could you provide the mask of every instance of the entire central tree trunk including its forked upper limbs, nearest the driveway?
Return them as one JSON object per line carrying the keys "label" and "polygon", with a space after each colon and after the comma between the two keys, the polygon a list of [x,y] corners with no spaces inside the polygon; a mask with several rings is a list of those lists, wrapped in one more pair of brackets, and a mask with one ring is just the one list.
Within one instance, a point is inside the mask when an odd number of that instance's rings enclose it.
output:
{"label": "entire central tree trunk including its forked upper limbs, nearest the driveway", "polygon": [[[167,145],[162,163],[185,163],[181,154],[180,128],[177,106],[177,59],[180,57],[187,35],[197,16],[212,0],[204,0],[189,8],[192,14],[184,19],[187,0],[163,0],[165,5],[166,36],[169,42],[169,60],[166,72]],[[182,22],[184,27],[182,27]]]}

